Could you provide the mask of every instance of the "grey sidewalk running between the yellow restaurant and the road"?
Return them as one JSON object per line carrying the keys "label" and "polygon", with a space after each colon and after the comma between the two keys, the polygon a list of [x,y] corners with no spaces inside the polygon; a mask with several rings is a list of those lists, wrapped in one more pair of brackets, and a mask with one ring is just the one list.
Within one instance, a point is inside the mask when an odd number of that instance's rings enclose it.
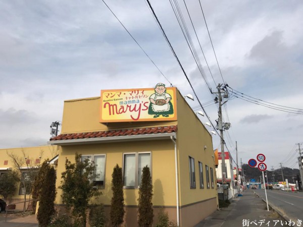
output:
{"label": "grey sidewalk running between the yellow restaurant and the road", "polygon": [[[251,190],[242,192],[227,208],[215,211],[194,227],[285,226],[285,220]],[[282,221],[282,223],[281,223]],[[286,225],[287,226],[287,225]]]}

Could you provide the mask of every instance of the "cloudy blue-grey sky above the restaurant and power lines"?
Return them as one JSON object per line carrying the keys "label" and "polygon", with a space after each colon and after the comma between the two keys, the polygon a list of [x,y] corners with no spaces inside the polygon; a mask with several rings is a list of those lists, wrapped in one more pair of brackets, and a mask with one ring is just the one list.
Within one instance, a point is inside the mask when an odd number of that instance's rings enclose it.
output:
{"label": "cloudy blue-grey sky above the restaurant and power lines", "polygon": [[[62,120],[67,99],[96,97],[103,89],[151,88],[158,82],[193,94],[147,3],[105,2],[161,72],[103,1],[0,1],[0,149],[46,144],[49,126]],[[177,2],[213,91],[227,83],[251,97],[303,108],[301,1],[201,0],[207,26],[198,0]],[[150,4],[198,99],[212,101],[170,1]],[[198,105],[196,97],[186,100]],[[216,125],[217,105],[204,109]],[[239,162],[263,153],[268,169],[279,168],[280,162],[298,168],[303,115],[230,95],[223,121],[231,123],[224,139],[234,160],[237,141]],[[218,135],[213,145],[221,149]]]}

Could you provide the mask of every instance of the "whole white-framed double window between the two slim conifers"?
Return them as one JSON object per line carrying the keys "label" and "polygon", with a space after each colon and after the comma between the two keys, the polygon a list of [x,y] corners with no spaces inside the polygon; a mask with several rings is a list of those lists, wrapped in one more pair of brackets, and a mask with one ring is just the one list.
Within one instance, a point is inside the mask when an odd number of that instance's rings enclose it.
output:
{"label": "whole white-framed double window between the two slim conifers", "polygon": [[138,188],[141,184],[143,167],[150,169],[150,152],[136,152],[123,154],[123,182],[124,188]]}

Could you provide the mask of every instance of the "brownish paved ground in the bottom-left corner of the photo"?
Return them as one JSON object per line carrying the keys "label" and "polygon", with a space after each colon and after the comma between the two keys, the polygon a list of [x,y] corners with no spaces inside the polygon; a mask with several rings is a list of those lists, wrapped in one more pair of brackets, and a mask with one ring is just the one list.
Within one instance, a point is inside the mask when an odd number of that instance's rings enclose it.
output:
{"label": "brownish paved ground in the bottom-left corner of the photo", "polygon": [[1,227],[38,227],[38,221],[35,214],[25,217],[8,217],[5,221],[5,216],[0,218]]}

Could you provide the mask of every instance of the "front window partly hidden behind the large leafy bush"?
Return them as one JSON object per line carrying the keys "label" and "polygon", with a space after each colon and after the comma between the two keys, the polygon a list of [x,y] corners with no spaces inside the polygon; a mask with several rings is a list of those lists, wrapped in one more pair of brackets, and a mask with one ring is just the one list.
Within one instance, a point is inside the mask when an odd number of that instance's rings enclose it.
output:
{"label": "front window partly hidden behind the large leafy bush", "polygon": [[93,179],[93,185],[104,188],[105,186],[105,154],[93,154],[93,155],[82,155],[81,161],[88,159],[90,162],[93,161],[95,166],[95,178]]}

